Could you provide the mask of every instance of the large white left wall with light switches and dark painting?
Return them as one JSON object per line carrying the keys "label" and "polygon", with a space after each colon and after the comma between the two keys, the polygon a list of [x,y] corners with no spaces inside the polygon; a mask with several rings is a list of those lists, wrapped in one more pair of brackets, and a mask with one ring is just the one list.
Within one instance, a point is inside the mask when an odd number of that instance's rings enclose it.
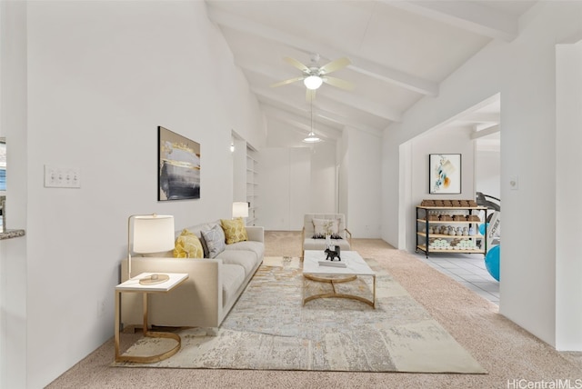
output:
{"label": "large white left wall with light switches and dark painting", "polygon": [[[42,387],[112,336],[128,215],[174,214],[176,229],[230,217],[231,128],[259,146],[265,132],[203,2],[25,9],[28,123],[6,136],[27,145],[11,165],[25,172],[14,193],[25,202],[25,272],[11,274],[25,291],[8,292],[27,300],[25,316],[10,317],[7,328],[25,323],[11,358],[25,360],[26,387]],[[201,144],[200,200],[156,201],[157,125]],[[80,168],[81,188],[44,188],[44,165]],[[8,374],[16,385],[7,387],[23,387],[22,371]]]}

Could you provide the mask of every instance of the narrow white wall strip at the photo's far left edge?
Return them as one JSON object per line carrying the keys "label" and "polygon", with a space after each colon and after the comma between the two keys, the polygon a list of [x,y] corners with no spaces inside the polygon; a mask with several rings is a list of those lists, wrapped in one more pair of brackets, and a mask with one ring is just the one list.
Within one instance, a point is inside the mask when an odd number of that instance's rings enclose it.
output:
{"label": "narrow white wall strip at the photo's far left edge", "polygon": [[[26,226],[26,4],[0,2],[0,127],[6,138],[6,227]],[[5,37],[9,36],[10,39]],[[0,387],[26,386],[28,238],[0,241]]]}

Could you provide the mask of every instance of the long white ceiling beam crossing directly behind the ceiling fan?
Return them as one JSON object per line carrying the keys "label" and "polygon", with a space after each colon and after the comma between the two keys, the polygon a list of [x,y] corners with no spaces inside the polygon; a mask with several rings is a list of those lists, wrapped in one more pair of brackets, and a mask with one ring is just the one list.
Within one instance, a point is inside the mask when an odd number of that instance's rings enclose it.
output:
{"label": "long white ceiling beam crossing directly behind the ceiling fan", "polygon": [[415,75],[409,75],[399,70],[376,64],[365,58],[344,53],[327,45],[317,45],[314,41],[300,38],[296,35],[287,34],[266,25],[260,25],[251,20],[233,15],[226,11],[217,10],[209,4],[206,4],[207,14],[210,20],[217,25],[224,25],[236,31],[244,32],[250,35],[256,35],[263,39],[277,42],[282,45],[293,47],[297,50],[307,53],[317,53],[326,58],[336,59],[343,56],[349,56],[352,65],[349,68],[362,75],[374,77],[377,80],[384,81],[393,85],[399,85],[407,90],[416,92],[421,95],[438,95],[438,85]]}

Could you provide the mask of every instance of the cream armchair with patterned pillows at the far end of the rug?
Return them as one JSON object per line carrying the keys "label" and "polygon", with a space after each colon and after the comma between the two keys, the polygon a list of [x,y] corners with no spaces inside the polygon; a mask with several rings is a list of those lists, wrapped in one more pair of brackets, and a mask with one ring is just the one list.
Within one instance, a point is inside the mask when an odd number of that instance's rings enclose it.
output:
{"label": "cream armchair with patterned pillows at the far end of the rug", "polygon": [[301,260],[306,250],[325,250],[326,234],[341,250],[350,250],[352,234],[346,228],[344,214],[306,214],[301,233]]}

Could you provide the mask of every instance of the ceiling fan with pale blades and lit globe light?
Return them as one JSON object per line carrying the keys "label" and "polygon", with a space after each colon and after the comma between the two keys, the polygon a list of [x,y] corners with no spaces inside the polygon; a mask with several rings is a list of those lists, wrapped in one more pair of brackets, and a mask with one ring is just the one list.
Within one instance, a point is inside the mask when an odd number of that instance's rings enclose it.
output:
{"label": "ceiling fan with pale blades and lit globe light", "polygon": [[330,73],[336,72],[337,70],[343,69],[347,65],[351,64],[351,61],[347,57],[338,58],[335,61],[332,61],[329,64],[323,66],[317,65],[320,59],[320,56],[317,54],[311,55],[311,64],[309,66],[302,64],[290,56],[286,56],[283,59],[286,61],[286,63],[293,65],[297,69],[301,70],[303,75],[272,84],[271,87],[288,85],[295,83],[296,81],[303,81],[307,88],[307,100],[311,100],[315,97],[317,88],[319,88],[319,86],[321,86],[323,83],[346,90],[354,89],[354,85],[352,83],[329,76]]}

